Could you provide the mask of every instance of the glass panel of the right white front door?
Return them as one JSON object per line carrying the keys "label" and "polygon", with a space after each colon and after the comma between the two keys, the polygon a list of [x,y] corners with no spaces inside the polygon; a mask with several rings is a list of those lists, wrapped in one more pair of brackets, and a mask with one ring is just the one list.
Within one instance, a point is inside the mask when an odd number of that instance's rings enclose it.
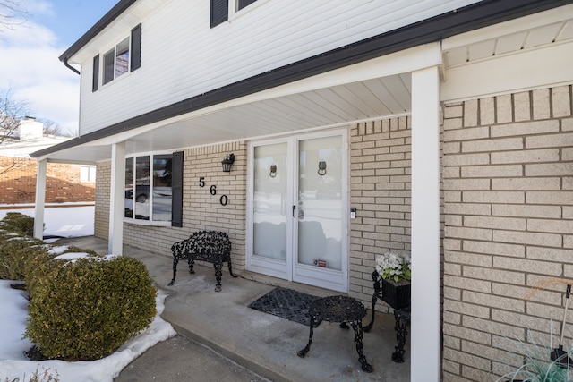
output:
{"label": "glass panel of the right white front door", "polygon": [[342,269],[342,138],[299,142],[298,263]]}

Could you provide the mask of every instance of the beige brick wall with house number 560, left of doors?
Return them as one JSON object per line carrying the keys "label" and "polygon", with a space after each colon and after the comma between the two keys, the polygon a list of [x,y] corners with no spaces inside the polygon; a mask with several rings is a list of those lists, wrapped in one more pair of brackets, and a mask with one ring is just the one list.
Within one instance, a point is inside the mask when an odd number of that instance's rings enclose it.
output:
{"label": "beige brick wall with house number 560, left of doors", "polygon": [[[235,154],[235,164],[230,173],[223,173],[221,161],[230,153]],[[98,237],[107,238],[110,162],[98,164],[97,174],[95,231]],[[204,187],[200,187],[201,177],[204,178]],[[215,195],[211,194],[212,186],[215,186]],[[227,205],[220,202],[223,195],[227,197]],[[183,204],[183,227],[124,224],[124,244],[170,257],[171,245],[188,238],[192,232],[203,229],[223,231],[229,235],[233,246],[233,267],[244,269],[245,143],[232,142],[184,150]]]}

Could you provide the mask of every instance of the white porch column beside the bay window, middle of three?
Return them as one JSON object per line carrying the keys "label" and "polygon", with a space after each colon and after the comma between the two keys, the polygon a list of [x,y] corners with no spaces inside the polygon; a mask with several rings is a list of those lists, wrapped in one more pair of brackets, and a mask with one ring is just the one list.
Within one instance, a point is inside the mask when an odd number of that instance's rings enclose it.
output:
{"label": "white porch column beside the bay window, middle of three", "polygon": [[124,247],[125,142],[111,147],[108,252],[121,255]]}

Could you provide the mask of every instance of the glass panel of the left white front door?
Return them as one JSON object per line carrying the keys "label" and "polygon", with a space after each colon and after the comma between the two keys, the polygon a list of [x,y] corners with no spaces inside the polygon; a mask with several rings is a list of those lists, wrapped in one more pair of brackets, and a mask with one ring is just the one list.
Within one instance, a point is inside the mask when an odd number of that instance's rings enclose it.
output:
{"label": "glass panel of the left white front door", "polygon": [[286,143],[254,148],[253,180],[253,254],[286,262]]}

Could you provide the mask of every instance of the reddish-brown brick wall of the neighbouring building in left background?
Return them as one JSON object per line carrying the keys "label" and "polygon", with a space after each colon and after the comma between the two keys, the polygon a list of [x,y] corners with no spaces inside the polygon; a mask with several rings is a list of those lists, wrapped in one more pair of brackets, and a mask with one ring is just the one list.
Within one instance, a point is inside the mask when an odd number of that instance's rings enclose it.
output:
{"label": "reddish-brown brick wall of the neighbouring building in left background", "polygon": [[[79,165],[47,164],[46,202],[93,201],[95,183],[81,183]],[[0,157],[0,204],[34,203],[38,162]]]}

